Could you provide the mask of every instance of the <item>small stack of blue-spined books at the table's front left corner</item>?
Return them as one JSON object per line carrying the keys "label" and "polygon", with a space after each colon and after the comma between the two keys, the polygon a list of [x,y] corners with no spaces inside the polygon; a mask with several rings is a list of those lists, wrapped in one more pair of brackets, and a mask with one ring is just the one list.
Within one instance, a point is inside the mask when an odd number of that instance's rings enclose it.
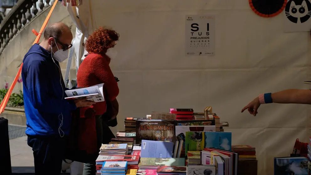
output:
{"label": "small stack of blue-spined books at the table's front left corner", "polygon": [[127,171],[127,162],[104,162],[100,171],[101,175],[125,175]]}

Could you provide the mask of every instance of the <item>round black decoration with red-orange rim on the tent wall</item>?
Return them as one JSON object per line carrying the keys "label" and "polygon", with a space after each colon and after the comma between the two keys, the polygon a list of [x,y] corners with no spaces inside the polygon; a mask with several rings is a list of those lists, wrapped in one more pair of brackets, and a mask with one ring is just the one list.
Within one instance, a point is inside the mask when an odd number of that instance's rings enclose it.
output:
{"label": "round black decoration with red-orange rim on the tent wall", "polygon": [[[261,7],[260,8],[254,4],[254,2],[258,2],[258,1],[261,1],[261,3],[260,3]],[[253,12],[255,12],[257,15],[264,17],[264,18],[270,18],[270,17],[277,16],[278,14],[280,14],[284,10],[286,3],[287,3],[287,0],[279,1],[278,3],[281,3],[281,4],[279,4],[279,6],[280,6],[279,9],[274,9],[274,12],[272,12],[272,13],[265,13],[265,11],[271,12],[270,7],[269,7],[269,5],[271,4],[271,1],[273,2],[274,0],[248,0],[248,2],[250,4],[250,8],[253,10]],[[274,2],[276,2],[276,1],[274,1]],[[275,7],[275,5],[273,5],[273,6]]]}

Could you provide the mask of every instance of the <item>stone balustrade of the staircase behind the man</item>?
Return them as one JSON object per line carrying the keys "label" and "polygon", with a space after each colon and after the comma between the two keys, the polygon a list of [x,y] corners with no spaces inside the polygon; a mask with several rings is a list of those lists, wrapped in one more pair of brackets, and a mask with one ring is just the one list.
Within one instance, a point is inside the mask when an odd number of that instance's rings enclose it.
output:
{"label": "stone balustrade of the staircase behind the man", "polygon": [[0,54],[16,34],[54,2],[55,0],[18,0],[8,14],[4,16],[4,12],[0,12]]}

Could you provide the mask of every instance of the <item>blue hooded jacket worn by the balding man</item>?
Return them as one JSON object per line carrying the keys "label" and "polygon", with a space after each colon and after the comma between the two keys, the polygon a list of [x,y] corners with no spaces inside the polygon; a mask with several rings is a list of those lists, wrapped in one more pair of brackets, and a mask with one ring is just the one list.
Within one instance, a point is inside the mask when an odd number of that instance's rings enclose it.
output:
{"label": "blue hooded jacket worn by the balding man", "polygon": [[69,134],[71,111],[76,109],[76,104],[64,99],[67,96],[61,85],[63,80],[57,67],[59,63],[54,63],[51,57],[51,53],[34,44],[23,60],[22,80],[27,135]]}

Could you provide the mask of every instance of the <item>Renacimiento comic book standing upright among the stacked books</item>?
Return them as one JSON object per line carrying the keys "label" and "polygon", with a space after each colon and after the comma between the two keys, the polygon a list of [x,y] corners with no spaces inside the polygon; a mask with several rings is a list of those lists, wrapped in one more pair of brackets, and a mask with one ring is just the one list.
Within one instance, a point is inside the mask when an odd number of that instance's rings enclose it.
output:
{"label": "Renacimiento comic book standing upright among the stacked books", "polygon": [[172,120],[137,120],[136,144],[141,144],[141,140],[172,142],[174,130]]}

